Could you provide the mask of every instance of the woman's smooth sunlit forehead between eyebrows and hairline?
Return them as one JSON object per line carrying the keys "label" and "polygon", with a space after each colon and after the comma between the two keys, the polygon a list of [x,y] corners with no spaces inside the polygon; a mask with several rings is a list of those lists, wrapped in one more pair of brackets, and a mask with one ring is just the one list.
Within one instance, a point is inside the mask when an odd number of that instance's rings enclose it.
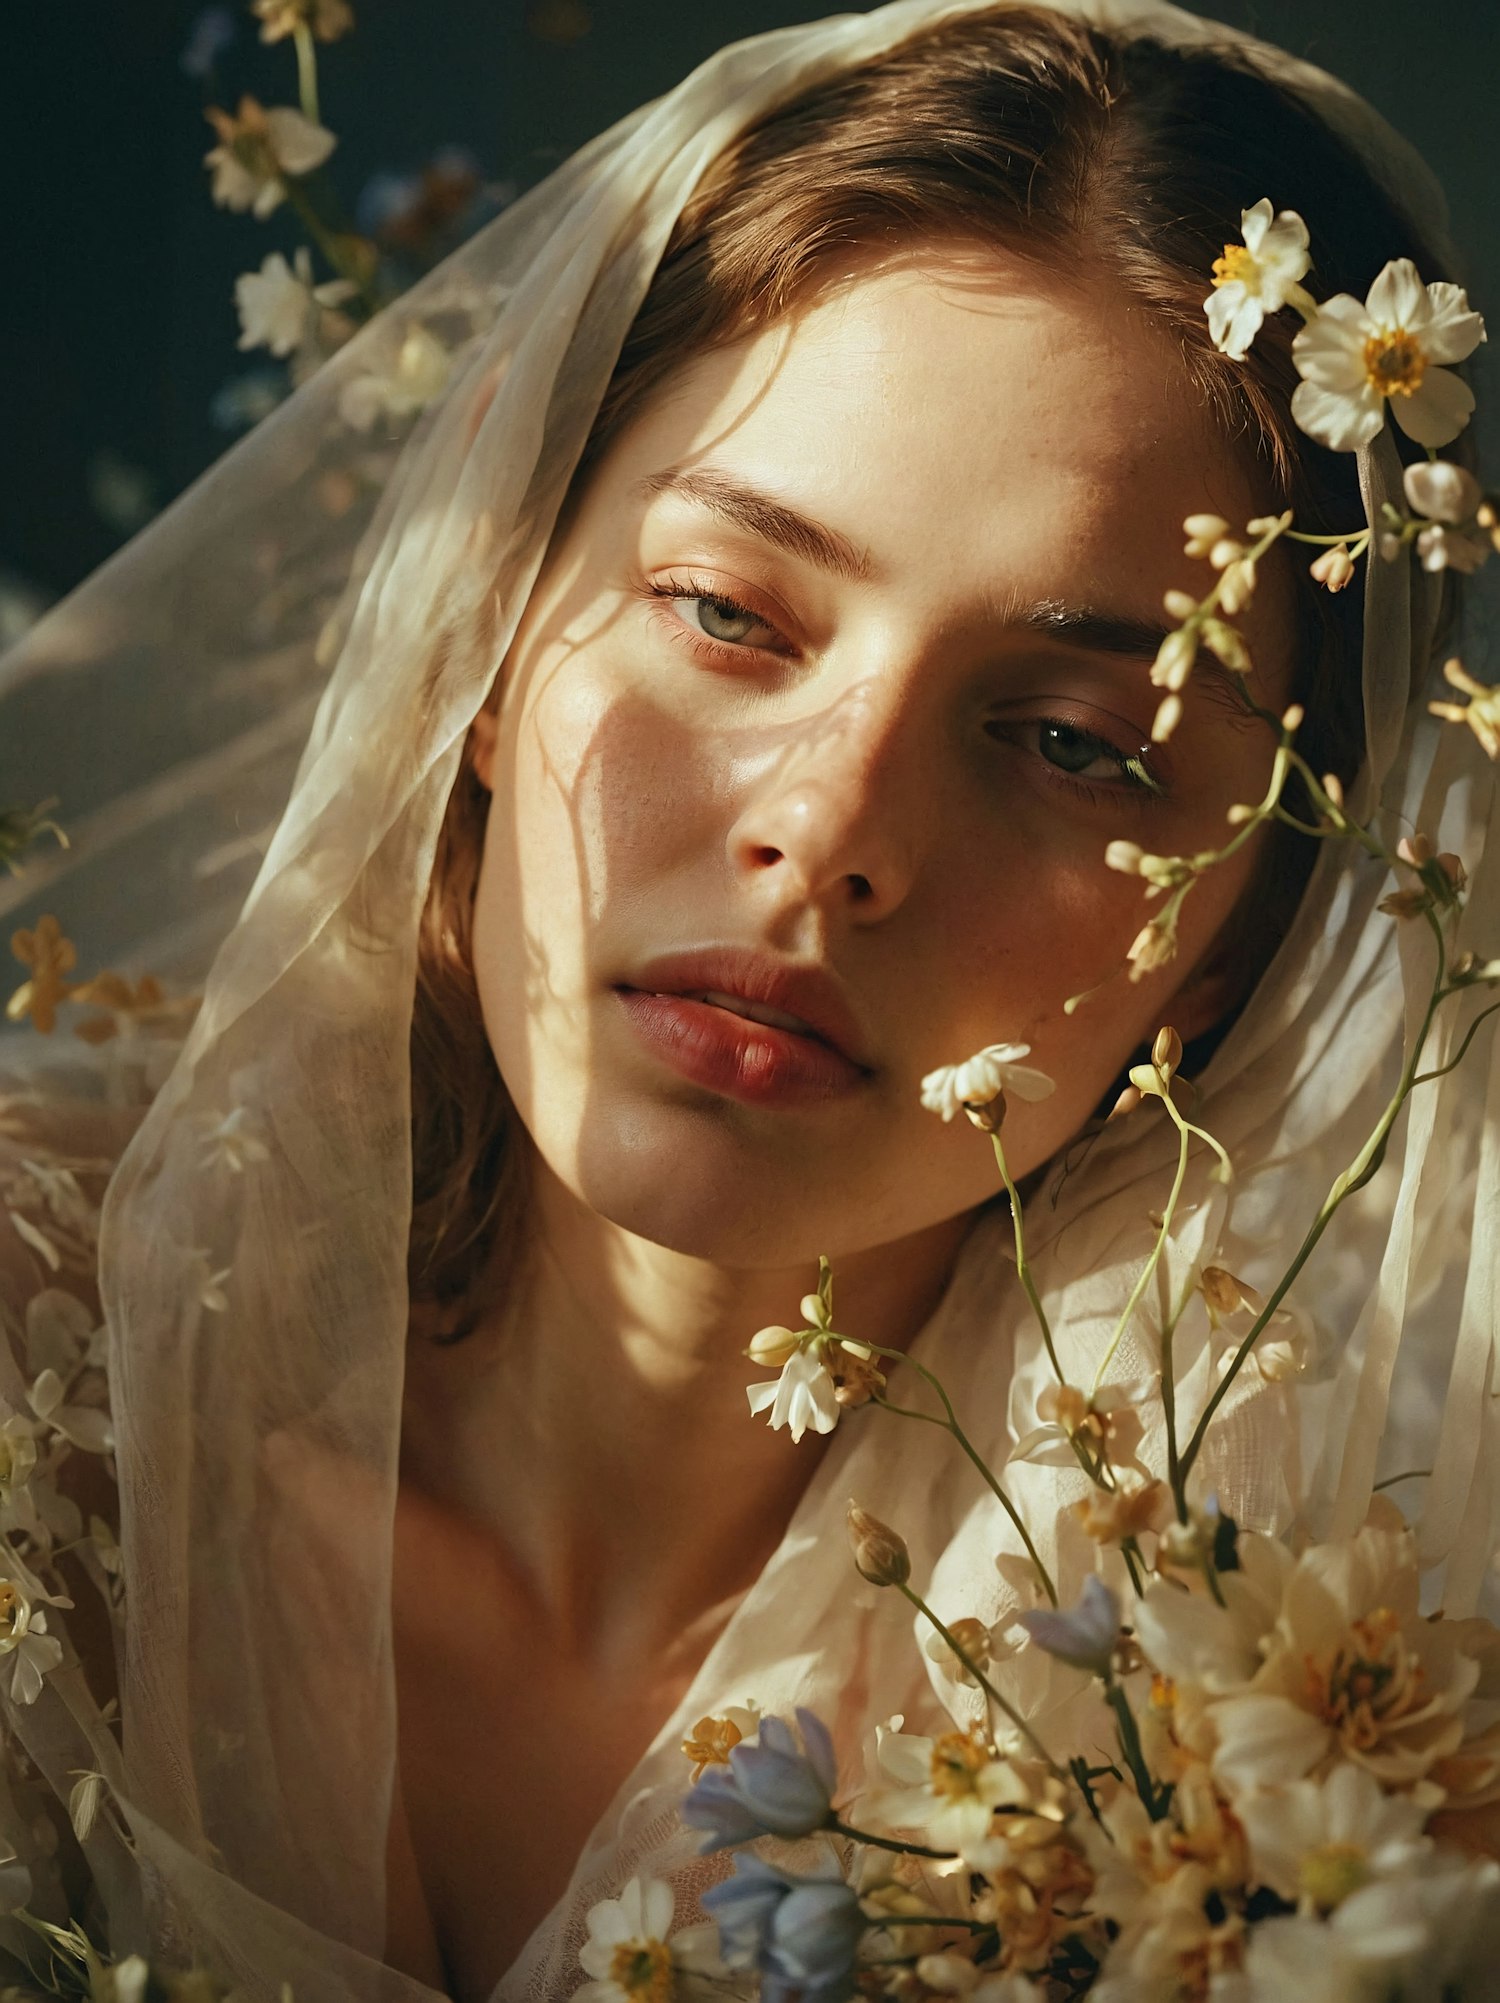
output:
{"label": "woman's smooth sunlit forehead between eyebrows and hairline", "polygon": [[715,485],[777,497],[871,579],[1059,545],[1166,563],[1184,515],[1254,511],[1174,345],[1025,264],[863,274],[697,357],[605,467],[657,519],[713,513]]}

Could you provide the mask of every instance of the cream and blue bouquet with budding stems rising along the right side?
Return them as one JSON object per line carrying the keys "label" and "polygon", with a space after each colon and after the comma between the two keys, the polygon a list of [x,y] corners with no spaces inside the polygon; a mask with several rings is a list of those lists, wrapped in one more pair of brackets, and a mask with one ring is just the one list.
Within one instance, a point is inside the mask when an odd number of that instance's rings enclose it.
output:
{"label": "cream and blue bouquet with budding stems rising along the right side", "polygon": [[[1380,1166],[1402,1106],[1462,1064],[1482,1022],[1500,1010],[1488,1004],[1452,1056],[1430,1058],[1444,1008],[1470,989],[1500,987],[1500,957],[1456,947],[1464,861],[1436,851],[1422,831],[1392,849],[1350,813],[1338,777],[1318,773],[1298,747],[1302,709],[1276,715],[1254,701],[1254,663],[1236,623],[1278,543],[1314,549],[1312,575],[1330,591],[1344,589],[1372,551],[1382,563],[1472,571],[1500,547],[1496,503],[1474,475],[1436,457],[1472,411],[1450,369],[1484,339],[1484,324],[1456,286],[1424,286],[1406,260],[1388,264],[1364,302],[1318,302],[1304,284],[1302,218],[1258,202],[1242,222],[1244,240],[1226,246],[1206,300],[1218,347],[1244,359],[1270,312],[1298,312],[1298,425],[1352,451],[1392,415],[1428,461],[1406,473],[1410,513],[1386,507],[1344,533],[1304,533],[1290,509],[1244,531],[1218,515],[1184,525],[1186,555],[1208,563],[1212,583],[1166,597],[1176,625],[1152,665],[1162,691],[1154,741],[1178,727],[1208,651],[1234,677],[1246,713],[1272,733],[1272,763],[1262,797],[1230,809],[1220,845],[1194,855],[1152,855],[1126,839],[1107,845],[1105,863],[1140,877],[1148,903],[1119,971],[1142,979],[1170,963],[1198,883],[1262,829],[1290,827],[1350,843],[1390,871],[1394,889],[1380,909],[1430,933],[1434,969],[1416,1036],[1386,1108],[1262,1296],[1214,1262],[1182,1274],[1168,1264],[1192,1158],[1208,1154],[1208,1174],[1222,1184],[1234,1164],[1192,1118],[1182,1040],[1160,1030],[1109,1118],[1156,1108],[1174,1130],[1176,1166],[1152,1248],[1087,1386],[1061,1366],[1001,1140],[1009,1098],[1045,1098],[1051,1080],[1023,1062],[1027,1046],[1007,1042],[923,1080],[927,1110],[943,1120],[963,1114],[991,1144],[1017,1284],[1053,1376],[1037,1400],[1037,1426],[1015,1442],[1009,1464],[1087,1476],[1071,1516],[1101,1554],[1117,1552],[1115,1576],[1130,1598],[1093,1572],[1077,1604],[1059,1606],[1015,1496],[977,1452],[947,1388],[917,1358],[835,1326],[833,1272],[821,1260],[817,1290],[801,1302],[803,1326],[765,1328],[747,1348],[753,1362],[779,1370],[749,1386],[751,1412],[793,1440],[859,1412],[949,1434],[1009,1518],[1033,1596],[1047,1604],[999,1626],[941,1618],[913,1584],[899,1532],[851,1504],[855,1570],[919,1614],[955,1727],[931,1739],[901,1731],[901,1721],[881,1729],[877,1785],[839,1803],[833,1747],[811,1713],[799,1711],[795,1723],[753,1713],[699,1721],[683,1747],[695,1771],[683,1821],[703,1833],[705,1855],[733,1853],[731,1877],[703,1895],[719,1925],[717,1961],[703,1961],[699,1935],[669,1939],[667,1925],[659,1937],[633,1935],[615,1949],[609,1979],[585,1991],[593,2003],[657,1993],[633,1987],[629,1969],[671,1971],[673,1993],[723,1993],[729,1983],[735,1995],[823,2003],[851,1995],[1063,2003],[1089,1993],[1146,2003],[1220,1989],[1244,2003],[1282,2003],[1306,1989],[1308,1971],[1318,1973],[1318,1993],[1340,2003],[1416,1993],[1414,1985],[1454,1999],[1490,1993],[1500,1863],[1472,1853],[1492,1845],[1486,1829],[1500,1811],[1500,1630],[1418,1614],[1416,1542],[1382,1496],[1356,1536],[1294,1556],[1270,1536],[1242,1532],[1202,1492],[1200,1476],[1206,1438],[1240,1374],[1250,1364],[1270,1382],[1300,1372],[1284,1302],[1336,1212]],[[1462,701],[1434,701],[1432,713],[1498,757],[1500,691],[1476,683],[1460,661],[1448,661],[1444,677]],[[1148,1298],[1158,1316],[1150,1324]],[[1180,1410],[1174,1360],[1190,1314],[1206,1318],[1220,1348],[1192,1422]],[[1119,1384],[1111,1372],[1132,1328],[1156,1342],[1160,1368],[1152,1380]],[[901,1402],[887,1382],[897,1368],[919,1386]],[[1162,1472],[1142,1460],[1144,1410],[1154,1400]],[[1037,1687],[1035,1675],[1015,1673],[1023,1650],[1051,1658],[1053,1679],[1063,1679],[1069,1745],[1049,1745],[1035,1701],[1031,1709],[1021,1701]],[[821,1863],[809,1871],[781,1849],[793,1841],[823,1843]],[[647,1899],[669,1919],[665,1893],[627,1887],[625,1901],[595,1907],[591,1929],[617,1939],[627,1903],[645,1925]],[[689,1943],[681,1961],[677,1941]],[[593,1943],[585,1967],[603,1969]],[[711,1987],[701,1991],[703,1981]]]}

